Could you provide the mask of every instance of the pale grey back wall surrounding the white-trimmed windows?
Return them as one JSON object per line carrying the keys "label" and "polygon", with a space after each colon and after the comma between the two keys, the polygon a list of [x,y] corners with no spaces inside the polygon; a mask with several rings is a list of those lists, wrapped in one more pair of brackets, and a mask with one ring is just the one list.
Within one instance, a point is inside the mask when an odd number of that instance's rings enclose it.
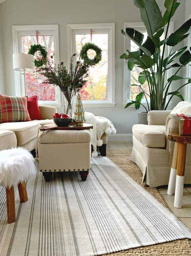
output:
{"label": "pale grey back wall surrounding the white-trimmed windows", "polygon": [[[158,0],[164,12],[164,1]],[[120,30],[124,22],[141,21],[139,9],[133,0],[7,0],[0,4],[2,12],[2,32],[6,94],[14,95],[14,71],[12,70],[12,25],[59,24],[60,60],[67,64],[67,24],[115,22],[115,108],[87,108],[86,111],[109,118],[117,128],[117,133],[132,133],[132,125],[137,123],[137,111],[123,108],[123,53],[124,37]],[[173,17],[175,29],[184,22],[185,2],[182,1]],[[181,45],[180,45],[181,47]],[[179,84],[175,84],[177,88]],[[175,105],[177,99],[173,100]]]}

